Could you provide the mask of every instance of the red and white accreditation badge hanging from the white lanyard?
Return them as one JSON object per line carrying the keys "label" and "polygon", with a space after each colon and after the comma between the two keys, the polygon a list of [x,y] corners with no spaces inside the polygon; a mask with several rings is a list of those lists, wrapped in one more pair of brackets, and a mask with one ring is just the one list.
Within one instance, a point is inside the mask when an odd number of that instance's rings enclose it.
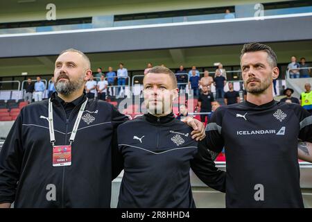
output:
{"label": "red and white accreditation badge hanging from the white lanyard", "polygon": [[71,145],[53,146],[53,167],[71,165]]}

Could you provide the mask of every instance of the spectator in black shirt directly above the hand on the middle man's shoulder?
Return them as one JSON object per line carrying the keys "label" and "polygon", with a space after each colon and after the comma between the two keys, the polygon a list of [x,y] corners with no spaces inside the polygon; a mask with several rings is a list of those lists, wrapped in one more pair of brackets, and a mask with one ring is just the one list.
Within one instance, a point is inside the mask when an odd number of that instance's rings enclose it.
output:
{"label": "spectator in black shirt directly above the hand on the middle man's shoulder", "polygon": [[[211,112],[212,106],[211,102],[214,101],[214,94],[211,93],[210,87],[204,85],[202,87],[202,93],[198,97],[198,106],[200,107],[200,112]],[[208,114],[200,114],[200,120],[205,123]]]}

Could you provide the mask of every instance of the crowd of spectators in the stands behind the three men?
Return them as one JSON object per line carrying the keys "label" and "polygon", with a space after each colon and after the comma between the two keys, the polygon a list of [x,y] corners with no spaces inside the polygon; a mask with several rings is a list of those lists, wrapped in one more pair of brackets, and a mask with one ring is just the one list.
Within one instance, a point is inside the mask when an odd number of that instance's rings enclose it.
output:
{"label": "crowd of spectators in the stands behind the three men", "polygon": [[[289,63],[287,67],[290,78],[308,78],[311,76],[311,69],[309,69],[309,65],[306,64],[305,61],[305,58],[300,58],[300,63],[298,63],[295,56],[291,57],[291,63]],[[149,62],[146,69],[144,69],[144,75],[146,75],[152,67],[153,64]],[[105,73],[101,67],[98,67],[97,71],[91,76],[85,85],[85,93],[89,99],[96,98],[103,101],[113,101],[116,105],[114,99],[124,98],[128,69],[124,67],[123,63],[120,63],[119,69],[117,69],[116,72],[113,70],[112,67],[108,67],[107,72]],[[214,104],[217,104],[218,106],[231,105],[234,103],[240,103],[246,99],[247,92],[245,92],[245,90],[243,90],[243,98],[241,99],[239,92],[234,90],[234,84],[231,81],[227,82],[227,71],[223,68],[221,63],[218,64],[218,67],[214,72],[205,70],[203,76],[196,66],[187,70],[181,65],[179,69],[175,70],[175,76],[177,78],[177,85],[180,92],[184,91],[187,96],[191,93],[193,96],[192,98],[195,101],[195,112],[203,113],[200,115],[200,120],[202,122],[207,123],[207,120],[211,117],[211,113],[214,112]],[[33,83],[34,81],[35,83]],[[215,93],[211,90],[212,86],[215,87]],[[225,92],[225,87],[227,88],[227,92]],[[300,98],[294,98],[292,96],[293,89],[285,89],[285,86],[283,85],[280,94],[284,94],[286,97],[281,99],[281,101],[301,104],[306,110],[311,110],[310,112],[312,112],[312,101],[309,101],[309,99],[312,100],[311,85],[306,83],[304,87],[306,91],[302,92]],[[36,80],[28,78],[26,87],[24,87],[25,92],[23,101],[26,103],[42,101],[45,88],[46,87],[40,76],[37,76]],[[192,90],[188,91],[186,89]],[[274,91],[275,95],[277,95],[276,80]],[[54,79],[52,77],[51,80],[49,80],[49,85],[47,87],[48,98],[51,97],[53,92],[55,92],[55,87]],[[188,115],[186,105],[187,104],[179,104],[179,107],[176,110],[177,112],[175,113],[177,114],[177,118]],[[17,106],[16,108],[19,107]],[[8,108],[8,111],[9,110],[10,108]],[[193,110],[191,111],[193,112]]]}

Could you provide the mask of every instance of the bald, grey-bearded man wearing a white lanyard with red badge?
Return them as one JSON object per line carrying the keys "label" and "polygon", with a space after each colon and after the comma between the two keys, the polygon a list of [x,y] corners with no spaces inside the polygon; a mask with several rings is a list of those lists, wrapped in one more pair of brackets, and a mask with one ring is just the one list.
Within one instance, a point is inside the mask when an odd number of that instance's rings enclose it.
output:
{"label": "bald, grey-bearded man wearing a white lanyard with red badge", "polygon": [[0,153],[0,207],[110,207],[111,181],[123,167],[112,147],[127,117],[87,99],[90,67],[84,53],[63,51],[56,92],[21,110]]}

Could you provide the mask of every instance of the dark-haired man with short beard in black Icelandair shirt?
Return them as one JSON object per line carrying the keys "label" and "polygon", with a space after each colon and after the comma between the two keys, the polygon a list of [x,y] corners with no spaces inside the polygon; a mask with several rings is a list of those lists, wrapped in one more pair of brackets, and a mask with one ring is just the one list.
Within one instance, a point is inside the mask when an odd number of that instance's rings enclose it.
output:
{"label": "dark-haired man with short beard in black Icelandair shirt", "polygon": [[312,162],[312,117],[273,99],[279,69],[269,46],[245,44],[241,69],[247,101],[221,106],[206,128],[211,153],[225,147],[226,206],[304,207],[297,159]]}

